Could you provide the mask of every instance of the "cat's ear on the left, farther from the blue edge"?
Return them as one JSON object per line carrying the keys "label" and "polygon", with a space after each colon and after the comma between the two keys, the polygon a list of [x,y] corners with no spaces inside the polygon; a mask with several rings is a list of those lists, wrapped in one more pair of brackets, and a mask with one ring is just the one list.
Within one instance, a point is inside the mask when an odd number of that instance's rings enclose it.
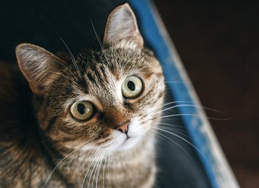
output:
{"label": "cat's ear on the left, farther from the blue edge", "polygon": [[65,64],[59,57],[33,44],[19,44],[15,53],[19,68],[36,95],[44,95],[46,86]]}

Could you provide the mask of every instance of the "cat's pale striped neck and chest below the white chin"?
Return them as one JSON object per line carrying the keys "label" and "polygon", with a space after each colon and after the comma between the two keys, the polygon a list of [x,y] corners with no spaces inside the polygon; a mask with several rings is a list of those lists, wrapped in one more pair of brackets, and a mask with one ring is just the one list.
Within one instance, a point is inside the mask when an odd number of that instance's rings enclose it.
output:
{"label": "cat's pale striped neck and chest below the white chin", "polygon": [[[155,177],[155,148],[152,137],[144,138],[126,151],[75,152],[65,160],[64,158],[62,162],[60,159],[56,161],[55,171],[59,176],[61,174],[62,177],[68,177],[66,183],[70,182],[75,187],[88,183],[111,184],[111,187],[148,187]],[[52,181],[49,183],[51,185]]]}

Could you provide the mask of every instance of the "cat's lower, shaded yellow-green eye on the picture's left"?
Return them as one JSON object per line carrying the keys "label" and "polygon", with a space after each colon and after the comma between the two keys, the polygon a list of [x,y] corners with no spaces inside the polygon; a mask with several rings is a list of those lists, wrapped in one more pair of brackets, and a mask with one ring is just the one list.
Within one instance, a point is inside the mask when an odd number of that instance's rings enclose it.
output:
{"label": "cat's lower, shaded yellow-green eye on the picture's left", "polygon": [[88,101],[75,102],[70,107],[70,113],[76,120],[89,120],[94,113],[93,104]]}

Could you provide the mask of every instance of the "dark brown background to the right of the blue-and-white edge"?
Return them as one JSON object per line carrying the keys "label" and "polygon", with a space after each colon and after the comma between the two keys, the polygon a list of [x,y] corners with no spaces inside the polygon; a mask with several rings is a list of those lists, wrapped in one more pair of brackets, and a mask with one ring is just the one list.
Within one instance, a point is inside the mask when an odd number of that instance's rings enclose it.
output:
{"label": "dark brown background to the right of the blue-and-white edge", "polygon": [[[259,2],[155,1],[241,187],[259,186]],[[217,113],[207,113],[211,117]]]}

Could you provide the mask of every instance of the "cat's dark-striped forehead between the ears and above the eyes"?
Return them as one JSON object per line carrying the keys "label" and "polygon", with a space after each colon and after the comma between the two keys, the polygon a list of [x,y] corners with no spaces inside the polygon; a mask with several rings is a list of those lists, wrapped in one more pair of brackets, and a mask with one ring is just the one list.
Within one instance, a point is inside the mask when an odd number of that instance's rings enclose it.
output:
{"label": "cat's dark-striped forehead between the ears and above the eyes", "polygon": [[[145,54],[131,49],[83,50],[76,61],[80,74],[77,74],[79,79],[78,77],[75,79],[79,81],[80,87],[74,92],[83,97],[81,100],[92,101],[98,98],[111,101],[111,97],[119,100],[117,97],[122,96],[121,86],[126,77],[136,75],[144,80],[148,75],[152,75],[153,71],[151,62],[146,60]],[[73,64],[70,66],[77,71]],[[87,95],[84,95],[85,93]]]}

